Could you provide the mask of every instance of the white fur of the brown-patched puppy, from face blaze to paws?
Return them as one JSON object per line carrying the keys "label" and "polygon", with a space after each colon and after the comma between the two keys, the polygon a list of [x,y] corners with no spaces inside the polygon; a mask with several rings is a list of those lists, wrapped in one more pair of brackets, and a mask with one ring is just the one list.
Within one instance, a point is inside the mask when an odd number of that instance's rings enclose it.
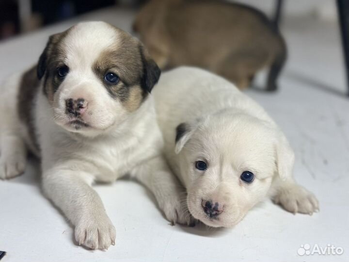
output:
{"label": "white fur of the brown-patched puppy, from face blaze to paws", "polygon": [[[161,156],[153,98],[148,96],[129,113],[92,72],[99,54],[117,41],[117,33],[106,23],[78,24],[64,40],[69,74],[54,95],[53,107],[42,83],[33,105],[43,191],[75,226],[77,243],[90,248],[106,249],[115,242],[115,228],[91,188],[94,181],[112,182],[129,174],[154,193],[167,219],[190,223],[181,205],[182,188]],[[25,143],[32,149],[28,129],[17,115],[19,81],[20,75],[13,76],[0,90],[0,179],[22,173]],[[68,123],[65,99],[79,97],[88,99],[83,118],[90,127],[76,130]]]}

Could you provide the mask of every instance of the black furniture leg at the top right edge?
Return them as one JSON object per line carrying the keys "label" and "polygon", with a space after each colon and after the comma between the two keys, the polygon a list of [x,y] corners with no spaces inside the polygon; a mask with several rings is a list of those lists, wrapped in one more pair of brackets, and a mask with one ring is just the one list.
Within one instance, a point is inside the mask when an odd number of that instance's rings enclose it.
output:
{"label": "black furniture leg at the top right edge", "polygon": [[349,96],[349,1],[337,0],[337,11],[347,74],[347,95]]}

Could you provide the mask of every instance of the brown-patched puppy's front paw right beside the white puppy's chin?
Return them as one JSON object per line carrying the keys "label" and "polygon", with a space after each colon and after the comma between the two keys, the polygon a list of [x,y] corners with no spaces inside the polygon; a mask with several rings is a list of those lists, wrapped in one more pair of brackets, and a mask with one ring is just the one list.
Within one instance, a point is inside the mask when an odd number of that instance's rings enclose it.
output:
{"label": "brown-patched puppy's front paw right beside the white puppy's chin", "polygon": [[159,207],[168,221],[193,227],[194,218],[190,215],[186,198],[181,199],[179,194],[170,194],[159,202]]}

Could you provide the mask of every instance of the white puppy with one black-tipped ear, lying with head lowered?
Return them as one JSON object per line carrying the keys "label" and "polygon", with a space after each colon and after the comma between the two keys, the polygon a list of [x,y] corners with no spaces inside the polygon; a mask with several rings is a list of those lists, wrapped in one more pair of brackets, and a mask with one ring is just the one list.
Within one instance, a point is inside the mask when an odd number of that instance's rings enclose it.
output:
{"label": "white puppy with one black-tipped ear, lying with head lowered", "polygon": [[196,219],[232,227],[268,194],[292,213],[318,209],[316,197],[293,179],[284,134],[232,83],[180,67],[162,74],[153,95],[167,161]]}

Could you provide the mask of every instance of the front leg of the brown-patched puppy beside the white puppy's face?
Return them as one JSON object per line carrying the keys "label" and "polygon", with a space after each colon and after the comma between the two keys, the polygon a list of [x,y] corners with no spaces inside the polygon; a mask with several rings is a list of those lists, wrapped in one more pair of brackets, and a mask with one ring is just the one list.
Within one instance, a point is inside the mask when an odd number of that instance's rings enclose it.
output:
{"label": "front leg of the brown-patched puppy beside the white puppy's face", "polygon": [[140,181],[154,194],[159,208],[173,225],[178,223],[194,226],[187,206],[186,190],[161,156],[134,168],[131,177]]}

